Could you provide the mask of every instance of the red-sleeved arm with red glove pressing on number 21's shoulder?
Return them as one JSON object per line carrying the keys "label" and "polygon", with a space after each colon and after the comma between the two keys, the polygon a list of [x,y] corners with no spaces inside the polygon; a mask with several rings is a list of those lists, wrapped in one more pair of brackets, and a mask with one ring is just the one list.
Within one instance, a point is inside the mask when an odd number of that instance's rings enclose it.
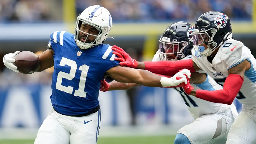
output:
{"label": "red-sleeved arm with red glove pressing on number 21's shoulder", "polygon": [[191,72],[196,72],[194,68],[194,63],[191,59],[189,60],[179,60],[179,61],[143,61],[138,62],[132,59],[129,54],[127,54],[122,48],[114,45],[112,47],[114,50],[113,54],[117,55],[118,58],[115,60],[120,61],[120,66],[127,66],[137,69],[145,69],[153,73],[174,75],[181,69],[188,69]]}

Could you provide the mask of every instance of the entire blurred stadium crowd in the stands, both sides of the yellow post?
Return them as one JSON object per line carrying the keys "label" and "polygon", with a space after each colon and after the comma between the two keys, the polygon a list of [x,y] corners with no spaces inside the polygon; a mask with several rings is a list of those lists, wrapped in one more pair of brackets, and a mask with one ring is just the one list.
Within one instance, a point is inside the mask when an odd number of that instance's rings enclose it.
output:
{"label": "entire blurred stadium crowd in the stands, both sides of the yellow post", "polygon": [[[0,0],[0,22],[61,21],[62,0]],[[107,8],[115,22],[195,20],[221,11],[232,20],[251,20],[252,0],[76,0],[77,14],[90,5]]]}

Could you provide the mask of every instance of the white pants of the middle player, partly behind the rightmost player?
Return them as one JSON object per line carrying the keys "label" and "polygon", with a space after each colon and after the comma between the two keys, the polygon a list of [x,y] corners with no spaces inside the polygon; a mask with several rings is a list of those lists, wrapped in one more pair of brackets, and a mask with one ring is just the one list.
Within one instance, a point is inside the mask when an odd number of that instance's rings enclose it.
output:
{"label": "white pants of the middle player, partly behind the rightmost player", "polygon": [[228,131],[238,113],[234,105],[224,113],[205,114],[177,133],[184,134],[191,144],[225,144]]}

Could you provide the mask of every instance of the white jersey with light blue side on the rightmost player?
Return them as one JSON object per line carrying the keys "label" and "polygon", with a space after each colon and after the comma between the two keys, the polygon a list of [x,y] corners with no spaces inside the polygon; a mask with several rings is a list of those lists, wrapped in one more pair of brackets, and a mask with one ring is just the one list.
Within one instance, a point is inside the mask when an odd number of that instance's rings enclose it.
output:
{"label": "white jersey with light blue side on the rightmost player", "polygon": [[212,63],[208,62],[207,57],[196,57],[195,50],[192,50],[192,60],[199,68],[208,73],[215,81],[221,85],[224,84],[228,76],[228,69],[237,64],[248,60],[251,63],[251,68],[245,72],[244,82],[240,89],[237,99],[243,106],[255,113],[256,110],[256,60],[248,49],[240,41],[228,39],[219,48]]}

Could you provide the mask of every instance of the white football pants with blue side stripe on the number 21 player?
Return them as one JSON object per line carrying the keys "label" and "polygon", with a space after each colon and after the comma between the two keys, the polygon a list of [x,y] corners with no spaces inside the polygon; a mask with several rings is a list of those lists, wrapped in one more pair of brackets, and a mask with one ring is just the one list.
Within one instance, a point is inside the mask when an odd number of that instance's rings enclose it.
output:
{"label": "white football pants with blue side stripe on the number 21 player", "polygon": [[100,120],[100,109],[82,117],[52,110],[39,128],[34,144],[96,144]]}

